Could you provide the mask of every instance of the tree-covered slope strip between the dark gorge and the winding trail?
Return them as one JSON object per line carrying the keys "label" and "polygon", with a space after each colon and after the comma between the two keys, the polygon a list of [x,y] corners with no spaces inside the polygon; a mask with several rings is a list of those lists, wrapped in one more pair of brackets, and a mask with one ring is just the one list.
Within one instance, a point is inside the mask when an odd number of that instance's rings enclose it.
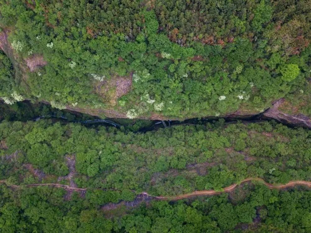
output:
{"label": "tree-covered slope strip between the dark gorge and the winding trail", "polygon": [[[0,136],[0,154],[16,161],[2,161],[1,179],[16,184],[25,182],[20,179],[27,171],[24,163],[49,175],[46,182],[56,183],[58,176],[68,174],[70,156],[75,157],[71,160],[75,160],[74,180],[79,187],[153,195],[221,190],[247,177],[270,183],[310,179],[310,131],[280,124],[222,126],[220,121],[124,133],[77,123],[51,125],[50,120],[3,121]],[[119,191],[114,200],[120,199]]]}

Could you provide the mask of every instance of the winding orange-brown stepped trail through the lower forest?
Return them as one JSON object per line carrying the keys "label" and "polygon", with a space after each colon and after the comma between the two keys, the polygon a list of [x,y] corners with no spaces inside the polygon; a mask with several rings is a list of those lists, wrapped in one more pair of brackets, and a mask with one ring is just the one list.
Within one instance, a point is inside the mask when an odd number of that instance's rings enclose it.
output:
{"label": "winding orange-brown stepped trail through the lower forest", "polygon": [[[261,178],[247,178],[247,179],[242,180],[240,182],[240,184],[231,184],[230,186],[225,187],[222,191],[201,190],[201,191],[194,191],[192,193],[185,193],[185,194],[181,194],[181,195],[177,195],[177,196],[152,196],[146,192],[142,192],[138,195],[142,194],[142,195],[146,195],[146,196],[153,197],[153,198],[160,199],[160,200],[174,201],[174,200],[190,198],[190,197],[195,197],[195,196],[206,196],[206,195],[217,195],[220,193],[229,193],[232,190],[234,190],[236,187],[238,187],[239,185],[246,183],[246,182],[249,182],[249,181],[258,181],[258,182],[266,185],[269,189],[285,189],[285,188],[293,187],[296,185],[304,185],[304,186],[308,186],[311,188],[311,181],[293,180],[293,181],[288,182],[287,184],[270,184]],[[73,191],[86,191],[87,190],[87,188],[77,188],[77,187],[69,186],[67,184],[54,184],[54,183],[16,185],[16,184],[7,184],[6,180],[0,180],[0,184],[6,184],[7,186],[12,187],[12,188],[35,187],[35,186],[52,186],[52,187],[56,187],[56,188],[62,188],[62,189],[73,190]]]}

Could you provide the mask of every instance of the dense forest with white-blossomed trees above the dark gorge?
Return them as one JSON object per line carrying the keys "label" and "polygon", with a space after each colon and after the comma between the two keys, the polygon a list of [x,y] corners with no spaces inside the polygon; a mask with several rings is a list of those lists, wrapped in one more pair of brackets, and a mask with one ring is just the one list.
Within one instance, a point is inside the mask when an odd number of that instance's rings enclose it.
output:
{"label": "dense forest with white-blossomed trees above the dark gorge", "polygon": [[308,0],[1,0],[0,13],[15,58],[47,62],[1,93],[12,102],[187,118],[309,100]]}

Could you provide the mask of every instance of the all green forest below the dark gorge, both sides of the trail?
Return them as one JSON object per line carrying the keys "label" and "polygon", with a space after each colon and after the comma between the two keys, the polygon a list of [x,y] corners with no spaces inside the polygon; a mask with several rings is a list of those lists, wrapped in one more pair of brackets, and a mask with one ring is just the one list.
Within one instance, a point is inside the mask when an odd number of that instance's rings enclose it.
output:
{"label": "all green forest below the dark gorge, both sides of the trail", "polygon": [[[275,122],[220,120],[134,133],[124,127],[86,128],[51,119],[4,120],[0,123],[0,180],[5,181],[0,185],[0,228],[4,232],[309,232],[311,197],[303,187],[277,191],[255,182],[230,194],[152,201],[132,210],[121,206],[111,212],[105,204],[131,202],[146,191],[163,196],[222,191],[247,177],[273,184],[310,180],[310,138],[309,130]],[[86,191],[68,196],[61,188],[25,186],[46,183],[74,184]]]}

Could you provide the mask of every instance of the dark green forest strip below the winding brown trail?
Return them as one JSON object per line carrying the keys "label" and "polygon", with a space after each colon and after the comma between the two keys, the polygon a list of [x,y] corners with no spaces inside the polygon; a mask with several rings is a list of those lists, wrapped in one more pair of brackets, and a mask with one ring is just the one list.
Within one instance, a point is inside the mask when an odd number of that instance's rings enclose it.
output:
{"label": "dark green forest strip below the winding brown trail", "polygon": [[3,232],[310,232],[311,193],[250,185],[234,194],[168,203],[154,201],[105,218],[89,201],[48,187],[12,192],[0,186]]}

